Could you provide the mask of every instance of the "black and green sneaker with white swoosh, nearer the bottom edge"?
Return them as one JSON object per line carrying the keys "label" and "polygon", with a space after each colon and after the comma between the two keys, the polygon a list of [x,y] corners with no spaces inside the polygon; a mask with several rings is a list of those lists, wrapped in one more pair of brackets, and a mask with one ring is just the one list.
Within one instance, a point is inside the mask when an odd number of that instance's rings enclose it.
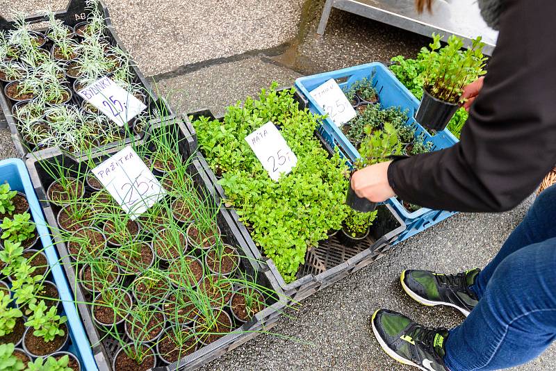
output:
{"label": "black and green sneaker with white swoosh, nearer the bottom edge", "polygon": [[386,309],[376,311],[370,322],[380,346],[396,361],[424,371],[448,371],[443,361],[447,329],[428,329]]}

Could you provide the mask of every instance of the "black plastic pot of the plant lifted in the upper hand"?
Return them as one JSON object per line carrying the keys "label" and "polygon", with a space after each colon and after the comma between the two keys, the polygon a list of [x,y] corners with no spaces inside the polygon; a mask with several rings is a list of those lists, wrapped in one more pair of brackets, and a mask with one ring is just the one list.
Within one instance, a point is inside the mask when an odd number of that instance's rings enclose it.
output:
{"label": "black plastic pot of the plant lifted in the upper hand", "polygon": [[458,108],[458,104],[436,99],[423,89],[423,98],[415,114],[415,119],[427,129],[441,131],[446,128]]}

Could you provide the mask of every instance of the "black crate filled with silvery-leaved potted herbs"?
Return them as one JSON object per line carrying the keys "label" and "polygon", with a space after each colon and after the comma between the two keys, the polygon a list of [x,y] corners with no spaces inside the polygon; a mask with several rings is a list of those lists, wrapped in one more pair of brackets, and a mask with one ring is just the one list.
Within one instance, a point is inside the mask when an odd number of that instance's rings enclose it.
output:
{"label": "black crate filled with silvery-leaved potted herbs", "polygon": [[[46,22],[46,28],[33,24]],[[117,125],[77,92],[108,76],[146,110]],[[65,12],[0,16],[0,106],[21,156],[121,147],[148,135],[153,114],[172,117],[138,70],[99,0],[72,0]]]}

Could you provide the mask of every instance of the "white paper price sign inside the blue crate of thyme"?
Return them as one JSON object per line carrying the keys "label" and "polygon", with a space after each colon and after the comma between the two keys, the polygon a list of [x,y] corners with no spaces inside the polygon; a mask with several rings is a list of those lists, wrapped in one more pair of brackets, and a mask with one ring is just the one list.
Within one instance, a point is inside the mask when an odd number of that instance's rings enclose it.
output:
{"label": "white paper price sign inside the blue crate of thyme", "polygon": [[336,126],[342,126],[350,121],[357,113],[347,100],[336,80],[330,79],[315,90],[309,92],[317,104],[324,108],[328,117],[334,121]]}

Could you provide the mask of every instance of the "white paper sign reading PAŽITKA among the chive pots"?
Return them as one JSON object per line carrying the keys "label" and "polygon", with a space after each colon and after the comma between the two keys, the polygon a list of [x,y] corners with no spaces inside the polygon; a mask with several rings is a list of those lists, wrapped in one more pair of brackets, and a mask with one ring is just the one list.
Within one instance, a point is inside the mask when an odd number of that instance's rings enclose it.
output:
{"label": "white paper sign reading PA\u017dITKA among the chive pots", "polygon": [[166,191],[129,146],[92,170],[126,213],[135,220],[164,197]]}

